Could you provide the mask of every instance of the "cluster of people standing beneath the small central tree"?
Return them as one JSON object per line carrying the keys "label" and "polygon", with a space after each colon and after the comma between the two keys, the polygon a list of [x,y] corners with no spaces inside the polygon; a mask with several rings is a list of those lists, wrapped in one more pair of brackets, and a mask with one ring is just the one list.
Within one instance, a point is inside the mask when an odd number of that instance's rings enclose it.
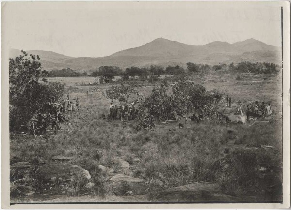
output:
{"label": "cluster of people standing beneath the small central tree", "polygon": [[[129,120],[135,119],[138,110],[135,109],[134,105],[121,105],[117,107],[117,105],[113,105],[110,103],[109,106],[109,120]],[[104,117],[103,117],[104,118]]]}

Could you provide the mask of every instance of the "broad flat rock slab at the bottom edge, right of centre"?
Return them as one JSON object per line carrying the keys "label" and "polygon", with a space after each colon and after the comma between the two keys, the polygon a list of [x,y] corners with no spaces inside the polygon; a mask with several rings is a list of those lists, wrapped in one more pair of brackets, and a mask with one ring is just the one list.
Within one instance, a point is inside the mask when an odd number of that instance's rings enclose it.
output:
{"label": "broad flat rock slab at the bottom edge, right of centre", "polygon": [[222,193],[218,183],[203,182],[162,190],[157,193],[153,201],[211,202],[240,201],[240,199]]}

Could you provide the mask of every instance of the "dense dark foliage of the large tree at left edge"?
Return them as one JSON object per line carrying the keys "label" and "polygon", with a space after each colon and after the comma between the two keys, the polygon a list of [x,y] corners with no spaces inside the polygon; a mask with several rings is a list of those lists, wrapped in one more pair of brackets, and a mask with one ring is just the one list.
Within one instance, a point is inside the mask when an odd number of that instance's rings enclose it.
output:
{"label": "dense dark foliage of the large tree at left edge", "polygon": [[[49,101],[56,101],[64,94],[64,85],[39,82],[41,64],[39,56],[23,55],[9,59],[9,117],[11,131],[26,126],[37,112],[48,112]],[[43,71],[43,73],[45,73]]]}

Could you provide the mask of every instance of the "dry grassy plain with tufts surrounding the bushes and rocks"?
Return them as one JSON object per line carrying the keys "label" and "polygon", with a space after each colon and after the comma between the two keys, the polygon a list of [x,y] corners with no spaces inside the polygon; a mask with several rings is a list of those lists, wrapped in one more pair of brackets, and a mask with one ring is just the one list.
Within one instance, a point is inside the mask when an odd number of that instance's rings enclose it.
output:
{"label": "dry grassy plain with tufts surrounding the bushes and rocks", "polygon": [[[101,118],[109,111],[111,100],[106,98],[105,90],[111,84],[97,85],[96,92],[92,93],[94,86],[81,86],[81,82],[92,82],[93,77],[57,78],[59,82],[65,82],[73,101],[78,97],[80,110],[65,113],[72,129],[67,129],[63,123],[57,135],[52,131],[36,138],[29,134],[10,134],[10,156],[31,163],[33,168],[25,175],[30,180],[26,183],[30,183],[28,187],[33,189],[33,193],[19,195],[17,187],[20,184],[11,183],[11,201],[196,201],[187,197],[193,191],[187,195],[177,195],[178,189],[175,187],[198,182],[219,186],[216,194],[220,194],[220,200],[217,198],[215,201],[280,202],[281,77],[240,76],[237,80],[231,74],[213,73],[195,75],[189,79],[202,84],[207,90],[217,89],[225,96],[228,94],[233,106],[237,106],[235,102],[238,100],[270,103],[273,116],[259,119],[270,123],[253,124],[256,121],[253,119],[245,124],[226,125],[207,120],[196,123],[181,119],[184,124],[182,129],[176,122],[155,122],[154,129],[138,132],[134,120],[121,122]],[[152,85],[146,81],[138,82],[143,84],[137,88],[139,93],[149,95]],[[113,101],[113,105],[119,106],[117,101]],[[91,180],[44,186],[36,179],[38,167],[54,163],[53,157],[59,155],[70,157],[64,165],[78,165],[87,170]],[[101,170],[99,165],[106,169]],[[117,174],[137,179],[128,182],[110,180]],[[83,188],[88,182],[94,186]],[[63,190],[65,186],[73,190]],[[173,191],[176,195],[167,191],[171,188],[177,190]],[[208,190],[205,188],[205,191]]]}

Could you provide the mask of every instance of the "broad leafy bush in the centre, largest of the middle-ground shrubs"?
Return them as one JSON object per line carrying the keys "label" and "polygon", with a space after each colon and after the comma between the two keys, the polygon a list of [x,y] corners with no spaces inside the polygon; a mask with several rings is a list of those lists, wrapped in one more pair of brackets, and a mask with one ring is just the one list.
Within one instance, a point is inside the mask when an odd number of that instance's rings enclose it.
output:
{"label": "broad leafy bush in the centre, largest of the middle-ground shrubs", "polygon": [[[185,114],[186,118],[194,109],[207,112],[205,116],[214,119],[219,117],[222,105],[222,93],[218,90],[207,91],[205,87],[180,78],[172,87],[173,94],[167,94],[167,83],[154,86],[152,93],[140,105],[141,116],[155,116],[170,120],[176,114]],[[210,117],[211,116],[211,117]]]}

